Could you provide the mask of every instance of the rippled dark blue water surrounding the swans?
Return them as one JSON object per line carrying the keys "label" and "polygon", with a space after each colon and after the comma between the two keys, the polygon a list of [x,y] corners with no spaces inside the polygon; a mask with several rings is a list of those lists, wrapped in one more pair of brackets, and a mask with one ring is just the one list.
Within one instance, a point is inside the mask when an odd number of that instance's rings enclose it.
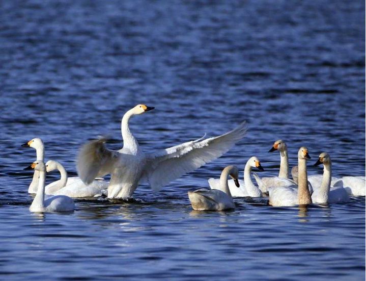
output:
{"label": "rippled dark blue water surrounding the swans", "polygon": [[[0,4],[0,274],[39,280],[361,280],[365,199],[326,207],[272,208],[236,199],[232,212],[194,212],[191,188],[228,164],[242,171],[286,140],[290,165],[306,145],[328,151],[334,175],[365,173],[364,4],[342,1],[5,1]],[[241,120],[248,135],[228,154],[134,200],[76,200],[72,214],[31,214],[20,145],[41,137],[46,159],[75,175],[82,143],[131,120],[146,151]],[[58,178],[57,173],[47,182]]]}

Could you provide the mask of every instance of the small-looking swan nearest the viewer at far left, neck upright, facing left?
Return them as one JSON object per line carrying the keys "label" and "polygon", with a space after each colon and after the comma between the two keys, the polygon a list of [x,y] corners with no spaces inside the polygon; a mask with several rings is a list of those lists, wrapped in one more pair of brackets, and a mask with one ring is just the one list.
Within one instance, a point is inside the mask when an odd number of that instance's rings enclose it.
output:
{"label": "small-looking swan nearest the viewer at far left, neck upright, facing left", "polygon": [[33,162],[24,170],[36,170],[39,172],[39,182],[36,196],[33,199],[32,205],[29,208],[31,212],[35,213],[50,213],[50,212],[69,212],[74,211],[74,201],[64,195],[57,195],[49,197],[45,200],[44,183],[46,181],[46,165],[42,160]]}

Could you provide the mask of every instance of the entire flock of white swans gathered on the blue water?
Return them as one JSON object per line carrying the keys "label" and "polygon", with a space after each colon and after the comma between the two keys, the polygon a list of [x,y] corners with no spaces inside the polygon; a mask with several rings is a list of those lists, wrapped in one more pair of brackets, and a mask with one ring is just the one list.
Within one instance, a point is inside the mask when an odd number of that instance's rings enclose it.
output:
{"label": "entire flock of white swans gathered on the blue water", "polygon": [[[106,195],[108,198],[132,196],[139,184],[148,183],[158,192],[168,183],[182,175],[200,168],[229,151],[247,131],[245,121],[234,130],[211,138],[200,138],[166,149],[145,152],[129,128],[131,117],[153,110],[140,104],[128,110],[121,121],[123,147],[108,149],[106,139],[99,138],[81,146],[76,160],[78,177],[68,177],[63,165],[54,160],[45,163],[45,148],[40,138],[34,138],[22,146],[36,149],[36,161],[26,169],[34,170],[28,192],[36,194],[31,205],[32,212],[67,212],[74,210],[72,198]],[[208,180],[211,189],[188,191],[194,210],[221,211],[235,208],[235,197],[266,197],[275,207],[309,205],[311,203],[341,203],[349,196],[365,196],[364,176],[332,177],[331,159],[326,152],[320,154],[314,166],[323,165],[323,175],[307,175],[306,163],[311,157],[307,147],[298,151],[298,166],[291,170],[287,144],[277,140],[269,152],[279,151],[278,176],[253,176],[253,169],[264,171],[259,159],[251,157],[244,168],[243,180],[238,180],[238,168],[229,165],[222,170],[219,180]],[[46,173],[60,172],[60,180],[45,186]],[[110,174],[110,182],[103,176]],[[231,177],[231,180],[228,180]],[[267,197],[267,195],[269,197]]]}

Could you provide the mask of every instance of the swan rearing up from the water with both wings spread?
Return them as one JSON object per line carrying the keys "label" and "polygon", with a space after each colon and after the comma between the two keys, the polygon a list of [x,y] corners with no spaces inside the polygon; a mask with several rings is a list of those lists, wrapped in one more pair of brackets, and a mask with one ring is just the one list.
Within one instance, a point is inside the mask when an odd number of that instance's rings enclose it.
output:
{"label": "swan rearing up from the water with both wings spread", "polygon": [[129,129],[129,120],[152,109],[137,105],[124,114],[121,122],[122,149],[108,149],[106,139],[88,142],[80,148],[77,172],[85,184],[90,184],[96,176],[110,173],[108,198],[129,197],[143,181],[148,181],[153,190],[159,191],[183,174],[220,157],[246,134],[246,123],[242,122],[233,131],[218,137],[201,138],[145,153]]}

